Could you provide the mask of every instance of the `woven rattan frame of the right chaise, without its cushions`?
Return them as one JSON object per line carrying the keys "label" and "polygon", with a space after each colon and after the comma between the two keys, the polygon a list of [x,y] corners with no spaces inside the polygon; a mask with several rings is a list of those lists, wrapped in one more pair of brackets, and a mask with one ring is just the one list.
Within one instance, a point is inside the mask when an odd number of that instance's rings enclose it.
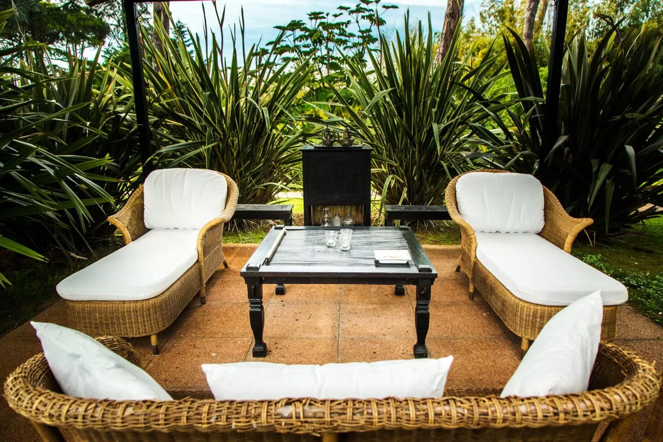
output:
{"label": "woven rattan frame of the right chaise, without its cushions", "polygon": [[[511,173],[505,170],[477,170],[473,172]],[[477,237],[474,229],[458,213],[455,185],[461,174],[449,183],[446,190],[446,205],[453,221],[461,227],[461,255],[457,270],[469,277],[469,298],[473,299],[475,287],[509,329],[522,339],[521,349],[526,351],[530,341],[538,336],[551,317],[564,307],[532,304],[516,298],[481,262],[477,260]],[[539,235],[560,249],[570,253],[578,233],[593,223],[590,218],[573,218],[560,201],[547,188],[544,193],[544,227]],[[603,307],[601,339],[615,339],[617,333],[617,305]]]}

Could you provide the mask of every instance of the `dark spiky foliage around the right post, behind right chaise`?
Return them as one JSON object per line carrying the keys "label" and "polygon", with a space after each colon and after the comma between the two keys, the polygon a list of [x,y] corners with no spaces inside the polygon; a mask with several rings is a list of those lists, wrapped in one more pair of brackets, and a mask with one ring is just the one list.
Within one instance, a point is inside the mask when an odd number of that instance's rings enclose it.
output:
{"label": "dark spiky foliage around the right post, behind right chaise", "polygon": [[[536,173],[546,107],[536,60],[512,32],[505,38],[522,106],[496,117],[483,134],[491,166]],[[610,30],[589,54],[584,36],[566,51],[560,111],[562,136],[543,158],[540,179],[577,217],[591,217],[599,233],[617,233],[656,216],[663,205],[663,48],[661,28],[620,36]],[[647,204],[654,207],[641,210]]]}

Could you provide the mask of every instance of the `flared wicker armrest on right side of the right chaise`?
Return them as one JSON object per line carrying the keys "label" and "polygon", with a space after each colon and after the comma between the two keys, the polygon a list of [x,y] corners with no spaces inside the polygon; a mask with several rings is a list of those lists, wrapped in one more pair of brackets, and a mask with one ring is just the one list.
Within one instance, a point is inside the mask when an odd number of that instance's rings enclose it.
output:
{"label": "flared wicker armrest on right side of the right chaise", "polygon": [[583,229],[592,225],[594,220],[591,218],[573,218],[570,216],[566,213],[566,210],[564,210],[564,207],[562,207],[562,204],[560,204],[554,193],[545,187],[543,188],[543,195],[546,223],[540,235],[560,249],[564,249],[565,252],[571,253],[575,237]]}

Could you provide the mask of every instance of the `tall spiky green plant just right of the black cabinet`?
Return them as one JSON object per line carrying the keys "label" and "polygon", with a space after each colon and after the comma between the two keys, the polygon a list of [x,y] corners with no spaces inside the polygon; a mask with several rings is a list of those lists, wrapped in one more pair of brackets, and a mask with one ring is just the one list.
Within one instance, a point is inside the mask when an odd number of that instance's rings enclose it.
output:
{"label": "tall spiky green plant just right of the black cabinet", "polygon": [[[410,29],[408,15],[405,29]],[[349,115],[343,124],[375,148],[373,181],[391,182],[383,195],[389,203],[441,204],[449,180],[473,167],[463,152],[473,125],[487,117],[486,108],[498,105],[487,94],[504,74],[490,50],[476,66],[457,60],[458,37],[456,32],[436,66],[429,16],[428,32],[419,23],[412,35],[396,32],[391,44],[382,38],[382,62],[368,52],[372,70],[347,60],[353,103],[335,91]],[[330,123],[341,121],[328,116]]]}

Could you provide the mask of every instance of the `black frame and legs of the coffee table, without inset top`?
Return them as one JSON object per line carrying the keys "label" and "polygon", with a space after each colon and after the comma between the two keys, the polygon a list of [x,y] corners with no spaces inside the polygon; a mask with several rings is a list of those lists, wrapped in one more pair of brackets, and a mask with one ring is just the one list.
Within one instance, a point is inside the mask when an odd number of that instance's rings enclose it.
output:
{"label": "black frame and legs of the coffee table, without inset top", "polygon": [[[255,345],[253,357],[267,356],[267,343],[263,340],[263,327],[265,325],[265,310],[263,307],[263,284],[389,284],[396,286],[396,292],[400,287],[416,286],[416,308],[414,323],[416,329],[416,343],[414,344],[414,357],[428,357],[426,349],[426,335],[430,322],[429,304],[430,288],[438,274],[432,266],[426,252],[414,236],[410,227],[398,227],[403,239],[408,245],[410,256],[416,270],[410,267],[396,266],[366,266],[365,271],[349,270],[347,266],[326,266],[324,271],[316,272],[307,270],[306,266],[279,265],[271,268],[269,262],[274,250],[278,248],[280,241],[290,231],[304,229],[320,229],[319,227],[288,227],[276,226],[267,234],[267,237],[253,253],[249,262],[241,271],[245,279],[249,294],[249,318]],[[394,229],[394,227],[355,227],[355,229]]]}

